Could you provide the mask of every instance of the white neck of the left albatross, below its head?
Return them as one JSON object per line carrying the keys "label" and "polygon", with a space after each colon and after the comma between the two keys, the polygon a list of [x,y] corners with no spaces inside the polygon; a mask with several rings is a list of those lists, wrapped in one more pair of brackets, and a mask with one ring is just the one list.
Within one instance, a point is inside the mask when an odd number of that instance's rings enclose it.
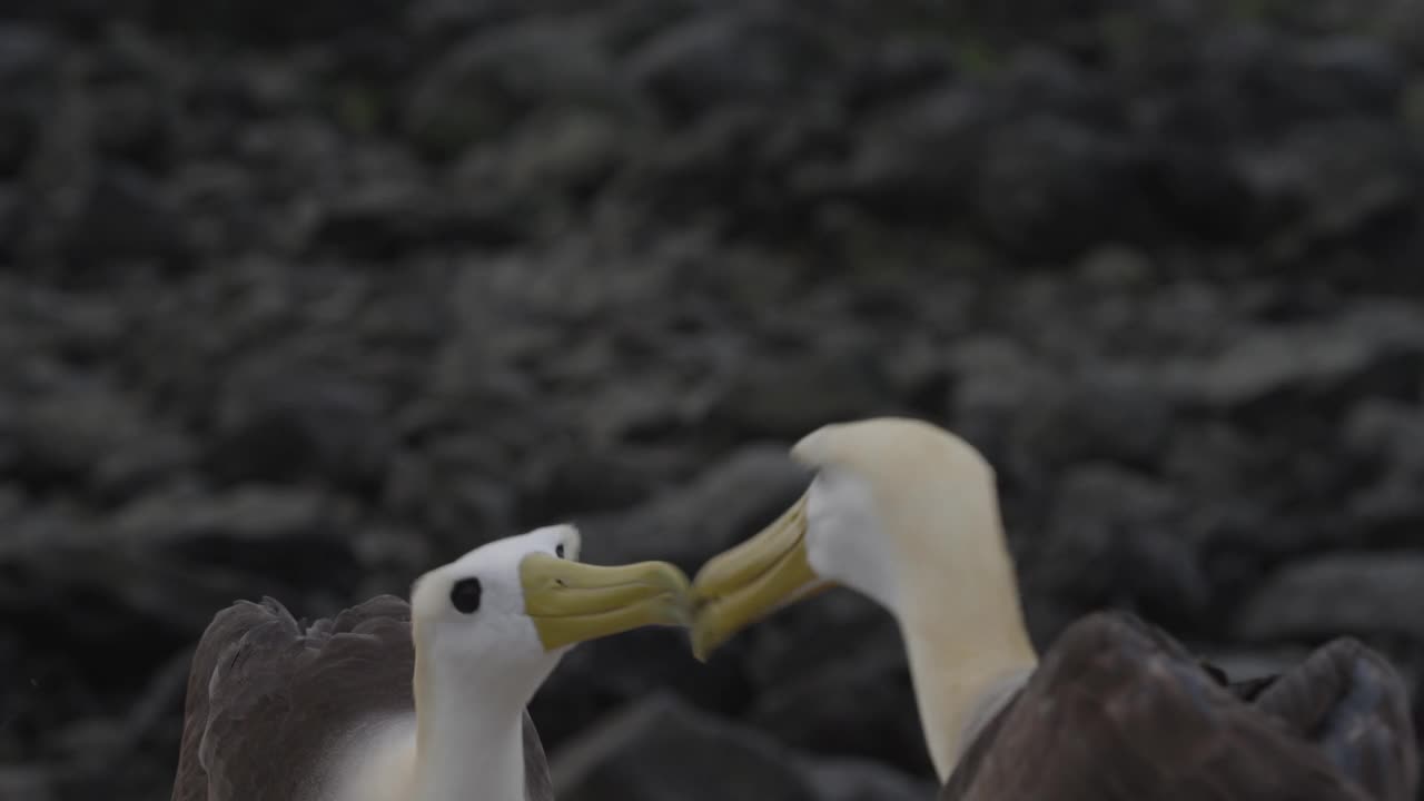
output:
{"label": "white neck of the left albatross, below its head", "polygon": [[423,667],[413,801],[524,801],[524,694]]}

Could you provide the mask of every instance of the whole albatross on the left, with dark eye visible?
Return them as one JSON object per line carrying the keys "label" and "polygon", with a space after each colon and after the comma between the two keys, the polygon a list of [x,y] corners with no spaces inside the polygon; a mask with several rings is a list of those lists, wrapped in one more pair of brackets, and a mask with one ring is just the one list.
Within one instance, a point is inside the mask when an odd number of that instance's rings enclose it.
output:
{"label": "whole albatross on the left, with dark eye visible", "polygon": [[577,643],[686,626],[688,580],[665,562],[578,562],[548,526],[299,624],[238,601],[198,641],[174,801],[547,801],[527,704]]}

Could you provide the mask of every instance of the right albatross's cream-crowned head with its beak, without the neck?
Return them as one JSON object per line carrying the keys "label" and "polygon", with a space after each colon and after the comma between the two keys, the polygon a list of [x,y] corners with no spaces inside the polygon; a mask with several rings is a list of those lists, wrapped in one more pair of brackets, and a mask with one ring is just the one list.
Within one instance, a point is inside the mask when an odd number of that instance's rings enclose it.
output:
{"label": "right albatross's cream-crowned head with its beak, without the neck", "polygon": [[917,582],[973,580],[960,566],[1004,550],[993,467],[940,428],[906,418],[829,425],[797,442],[792,458],[816,470],[810,489],[693,582],[699,656],[833,584],[913,616],[904,594]]}

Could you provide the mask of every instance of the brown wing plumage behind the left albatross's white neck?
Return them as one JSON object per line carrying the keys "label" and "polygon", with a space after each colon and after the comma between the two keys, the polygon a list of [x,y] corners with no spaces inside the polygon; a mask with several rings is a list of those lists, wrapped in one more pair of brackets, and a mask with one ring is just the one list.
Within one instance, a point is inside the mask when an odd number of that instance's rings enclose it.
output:
{"label": "brown wing plumage behind the left albatross's white neck", "polygon": [[[204,631],[188,677],[172,801],[263,801],[318,781],[332,737],[414,708],[410,607],[379,596],[302,627],[276,600],[238,601]],[[553,798],[524,713],[530,801]]]}

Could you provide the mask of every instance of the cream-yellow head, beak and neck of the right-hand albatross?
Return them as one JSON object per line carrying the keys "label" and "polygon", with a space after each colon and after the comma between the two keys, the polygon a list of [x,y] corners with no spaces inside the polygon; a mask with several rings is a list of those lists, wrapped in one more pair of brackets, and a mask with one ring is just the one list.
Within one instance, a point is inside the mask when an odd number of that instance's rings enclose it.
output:
{"label": "cream-yellow head, beak and neck of the right-hand albatross", "polygon": [[860,591],[901,629],[943,775],[985,687],[1035,663],[994,470],[958,436],[904,418],[824,426],[792,456],[816,470],[806,493],[693,580],[693,651],[706,658],[822,589]]}

